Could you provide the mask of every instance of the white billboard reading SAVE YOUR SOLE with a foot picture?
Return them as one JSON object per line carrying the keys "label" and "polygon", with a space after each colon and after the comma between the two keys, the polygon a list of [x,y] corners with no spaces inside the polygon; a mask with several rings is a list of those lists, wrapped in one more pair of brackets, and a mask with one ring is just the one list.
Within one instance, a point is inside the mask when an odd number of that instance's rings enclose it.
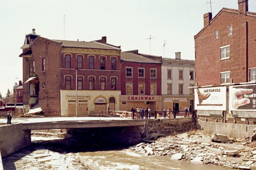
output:
{"label": "white billboard reading SAVE YOUR SOLE with a foot picture", "polygon": [[195,110],[227,110],[227,88],[195,89]]}

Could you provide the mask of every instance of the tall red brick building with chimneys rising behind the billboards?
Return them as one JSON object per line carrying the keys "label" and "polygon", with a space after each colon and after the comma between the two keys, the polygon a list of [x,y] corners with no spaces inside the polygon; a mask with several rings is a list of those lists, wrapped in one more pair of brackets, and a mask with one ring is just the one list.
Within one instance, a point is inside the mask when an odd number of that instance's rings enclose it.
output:
{"label": "tall red brick building with chimneys rising behind the billboards", "polygon": [[197,85],[256,80],[256,13],[248,12],[248,0],[238,0],[238,10],[222,8],[203,18],[194,36]]}

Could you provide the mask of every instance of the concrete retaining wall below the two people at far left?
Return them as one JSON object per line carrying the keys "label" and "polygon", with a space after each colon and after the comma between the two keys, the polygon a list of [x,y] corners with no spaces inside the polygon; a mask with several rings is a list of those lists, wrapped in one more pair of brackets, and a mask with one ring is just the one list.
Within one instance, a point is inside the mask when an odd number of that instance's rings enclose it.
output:
{"label": "concrete retaining wall below the two people at far left", "polygon": [[31,145],[31,131],[23,130],[22,123],[0,126],[0,134],[0,150],[3,157]]}

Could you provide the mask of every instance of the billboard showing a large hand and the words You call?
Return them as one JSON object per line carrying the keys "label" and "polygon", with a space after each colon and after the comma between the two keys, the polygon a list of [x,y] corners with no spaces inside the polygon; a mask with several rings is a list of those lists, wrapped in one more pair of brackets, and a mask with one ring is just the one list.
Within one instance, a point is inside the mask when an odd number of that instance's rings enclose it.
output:
{"label": "billboard showing a large hand and the words You call", "polygon": [[229,87],[229,109],[256,111],[256,84]]}

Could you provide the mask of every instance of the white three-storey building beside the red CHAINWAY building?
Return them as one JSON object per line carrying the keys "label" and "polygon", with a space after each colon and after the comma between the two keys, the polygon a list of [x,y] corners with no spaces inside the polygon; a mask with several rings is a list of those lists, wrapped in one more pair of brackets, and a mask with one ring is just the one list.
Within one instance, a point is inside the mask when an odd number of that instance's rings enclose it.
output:
{"label": "white three-storey building beside the red CHAINWAY building", "polygon": [[182,60],[181,52],[175,52],[175,59],[163,58],[162,72],[162,108],[184,111],[193,110],[195,86],[195,60]]}

